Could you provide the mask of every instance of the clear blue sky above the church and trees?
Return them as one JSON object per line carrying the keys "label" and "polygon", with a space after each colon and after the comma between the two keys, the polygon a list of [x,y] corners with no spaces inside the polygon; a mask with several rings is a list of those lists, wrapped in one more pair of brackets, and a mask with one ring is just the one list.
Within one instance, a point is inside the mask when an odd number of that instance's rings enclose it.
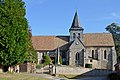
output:
{"label": "clear blue sky above the church and trees", "polygon": [[69,35],[75,12],[84,33],[103,33],[120,24],[120,0],[24,0],[33,36]]}

